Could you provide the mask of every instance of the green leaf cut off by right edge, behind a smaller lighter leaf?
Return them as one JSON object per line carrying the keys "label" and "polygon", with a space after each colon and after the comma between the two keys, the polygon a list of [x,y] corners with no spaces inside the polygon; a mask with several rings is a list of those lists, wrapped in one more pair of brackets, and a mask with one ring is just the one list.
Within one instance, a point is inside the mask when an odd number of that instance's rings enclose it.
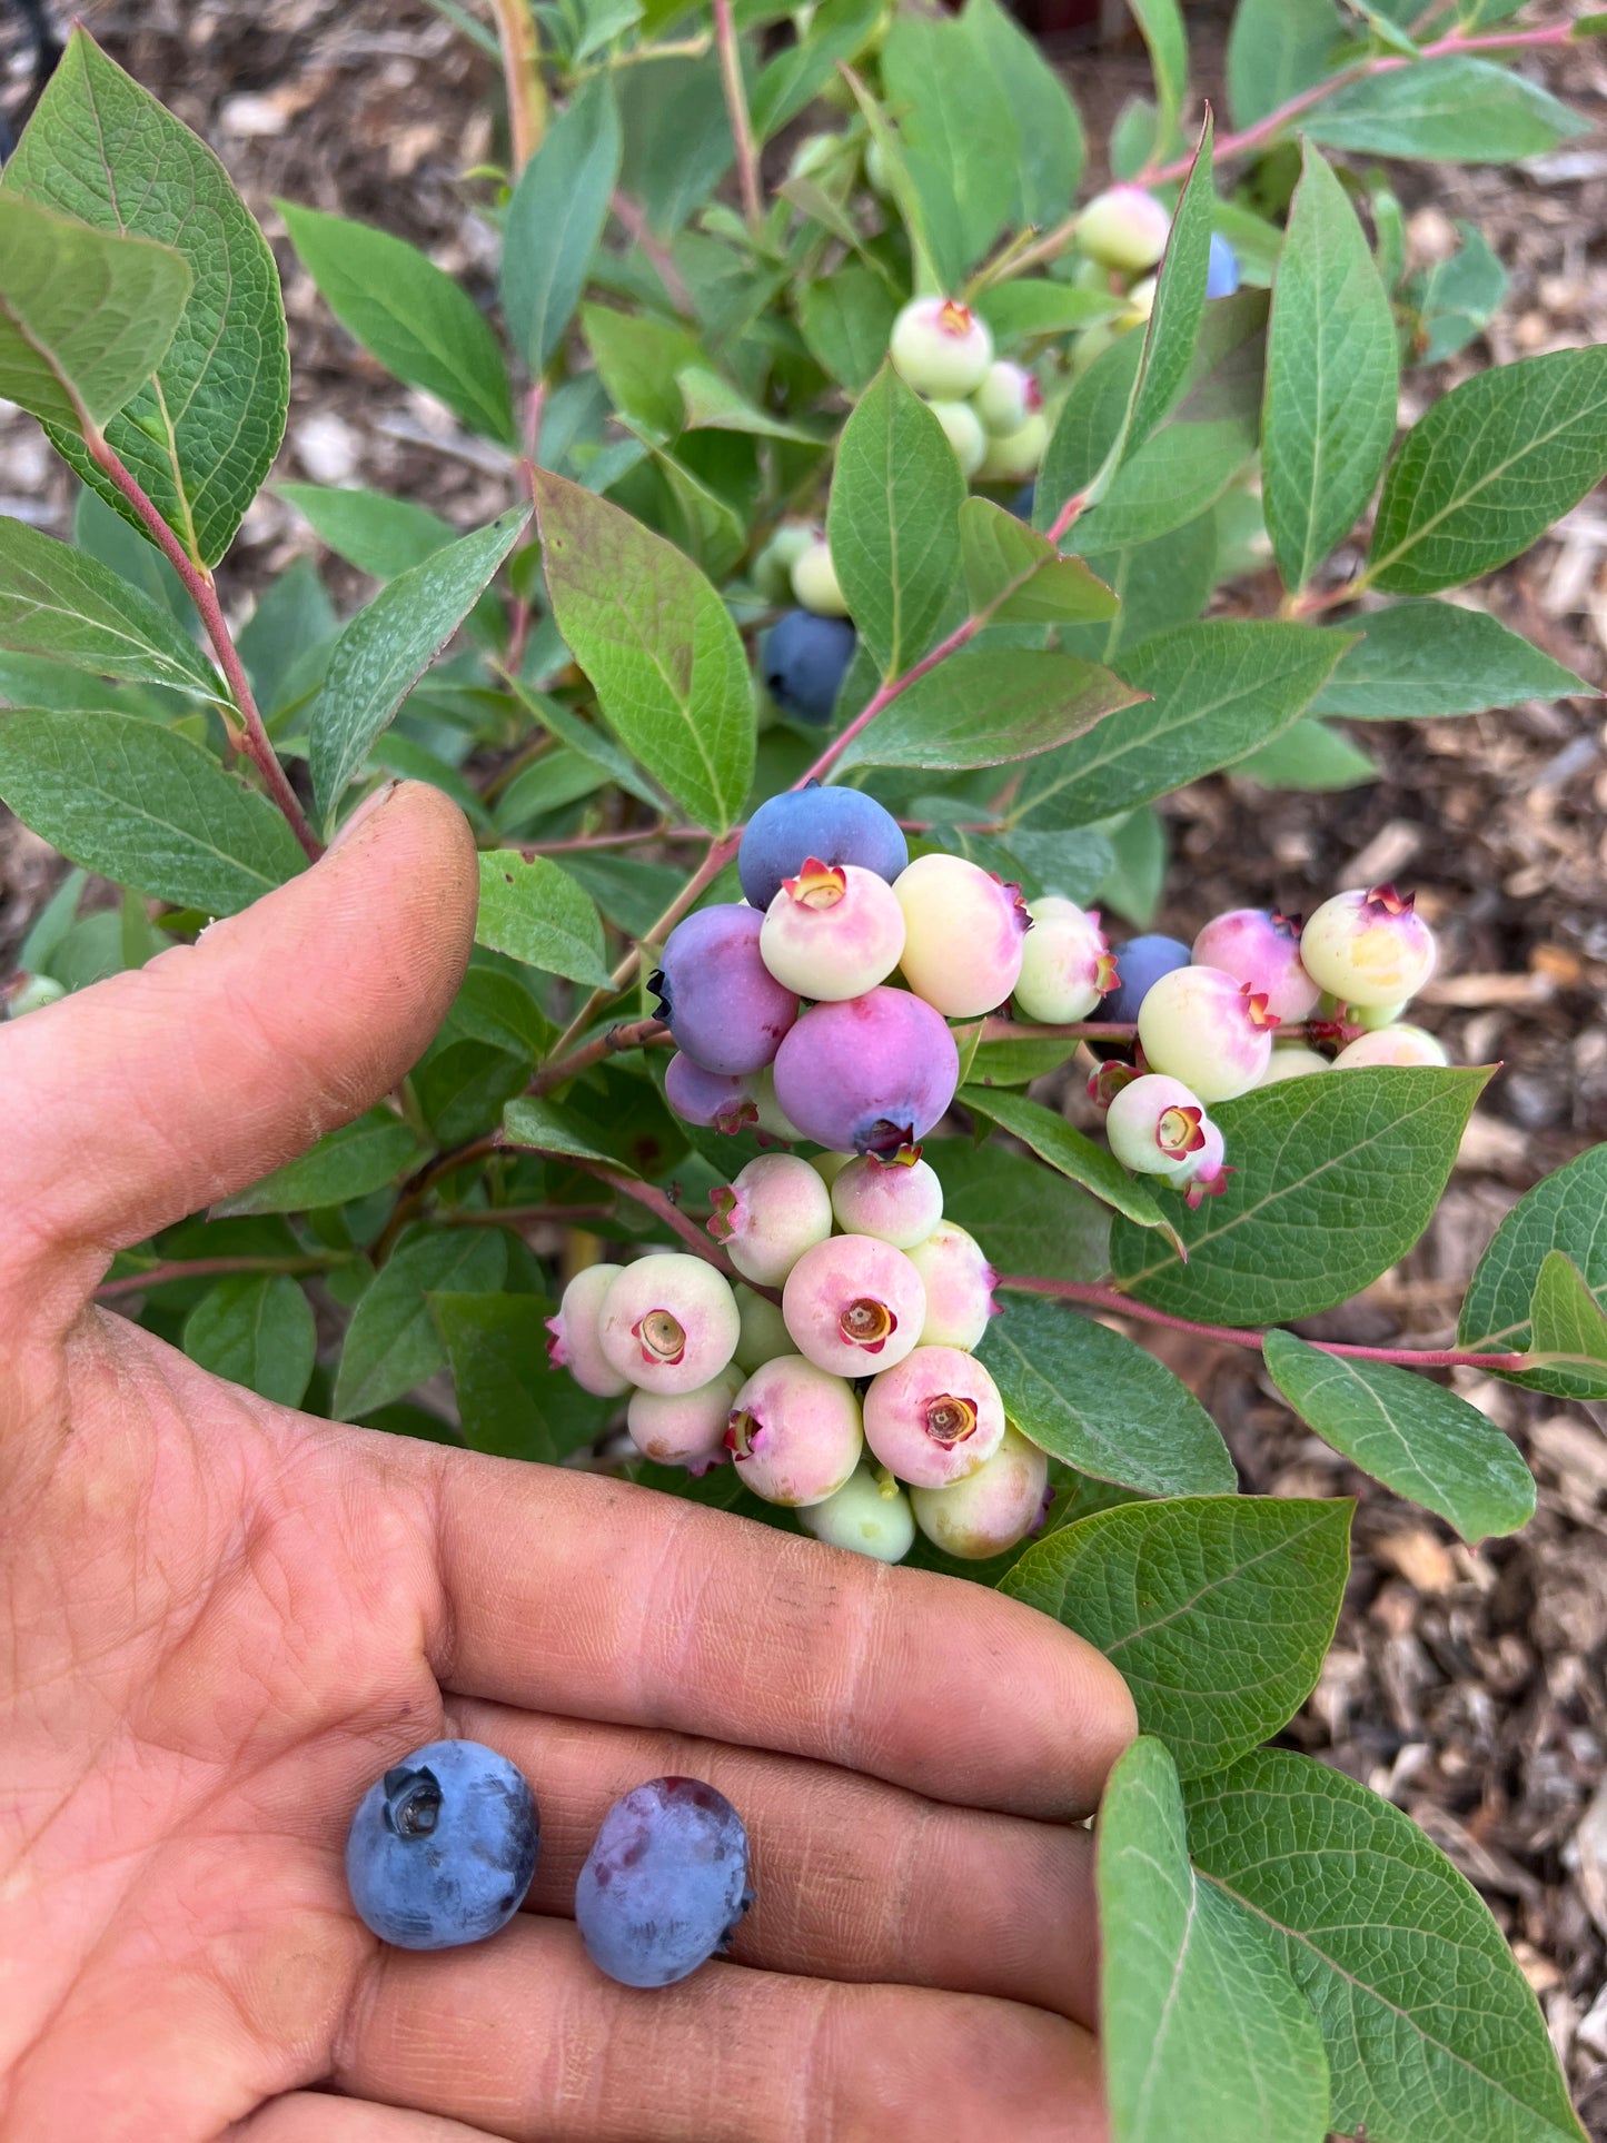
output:
{"label": "green leaf cut off by right edge, behind a smaller lighter leaf", "polygon": [[[1560,1252],[1583,1279],[1592,1301],[1607,1297],[1607,1147],[1590,1147],[1566,1168],[1545,1177],[1519,1198],[1474,1267],[1457,1322],[1457,1346],[1481,1354],[1528,1354],[1538,1346],[1534,1331],[1534,1294],[1545,1273],[1547,1256]],[[1566,1290],[1558,1271],[1547,1288],[1547,1322],[1562,1316]],[[1583,1305],[1571,1309],[1577,1322]],[[1556,1329],[1556,1327],[1553,1327]],[[1523,1369],[1508,1376],[1530,1391],[1551,1391],[1560,1399],[1594,1399],[1601,1372],[1594,1365],[1556,1363],[1545,1369]]]}

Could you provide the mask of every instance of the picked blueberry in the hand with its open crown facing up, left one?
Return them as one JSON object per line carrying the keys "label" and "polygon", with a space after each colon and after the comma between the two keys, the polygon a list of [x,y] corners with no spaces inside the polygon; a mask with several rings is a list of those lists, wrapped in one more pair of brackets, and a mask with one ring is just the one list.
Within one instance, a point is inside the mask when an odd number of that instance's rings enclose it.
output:
{"label": "picked blueberry in the hand with its open crown facing up, left one", "polygon": [[484,1942],[536,1873],[536,1796],[480,1742],[426,1742],[375,1779],[345,1841],[351,1903],[399,1950]]}

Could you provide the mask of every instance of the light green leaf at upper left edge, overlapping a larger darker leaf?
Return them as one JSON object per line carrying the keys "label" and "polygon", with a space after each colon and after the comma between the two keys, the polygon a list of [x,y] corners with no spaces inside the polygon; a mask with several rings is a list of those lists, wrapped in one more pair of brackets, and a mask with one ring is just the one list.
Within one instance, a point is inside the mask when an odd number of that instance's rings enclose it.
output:
{"label": "light green leaf at upper left edge, overlapping a larger darker leaf", "polygon": [[150,379],[191,289],[189,261],[0,193],[0,394],[90,431]]}

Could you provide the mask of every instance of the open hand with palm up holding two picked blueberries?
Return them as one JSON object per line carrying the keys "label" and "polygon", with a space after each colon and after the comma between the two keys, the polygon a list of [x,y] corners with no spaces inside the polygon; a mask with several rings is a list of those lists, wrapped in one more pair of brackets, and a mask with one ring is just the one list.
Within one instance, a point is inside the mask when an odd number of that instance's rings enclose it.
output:
{"label": "open hand with palm up holding two picked blueberries", "polygon": [[[390,1091],[474,866],[399,789],[197,947],[0,1033],[0,2137],[1095,2143],[1065,1817],[1131,1734],[1097,1654],[953,1579],[315,1421],[92,1305],[116,1245]],[[529,1777],[542,1856],[497,1937],[405,1954],[341,1852],[444,1734]],[[761,1903],[733,1963],[632,1993],[570,1914],[658,1772],[744,1811]]]}

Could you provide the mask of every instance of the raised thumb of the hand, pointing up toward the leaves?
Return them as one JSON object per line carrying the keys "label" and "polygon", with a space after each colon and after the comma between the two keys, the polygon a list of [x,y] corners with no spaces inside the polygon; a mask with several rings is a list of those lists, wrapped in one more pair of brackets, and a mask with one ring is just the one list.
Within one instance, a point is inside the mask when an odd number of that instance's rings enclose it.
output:
{"label": "raised thumb of the hand, pointing up toward the leaves", "polygon": [[148,966],[0,1033],[0,1258],[71,1273],[242,1189],[418,1061],[456,994],[474,836],[384,791],[319,864]]}

